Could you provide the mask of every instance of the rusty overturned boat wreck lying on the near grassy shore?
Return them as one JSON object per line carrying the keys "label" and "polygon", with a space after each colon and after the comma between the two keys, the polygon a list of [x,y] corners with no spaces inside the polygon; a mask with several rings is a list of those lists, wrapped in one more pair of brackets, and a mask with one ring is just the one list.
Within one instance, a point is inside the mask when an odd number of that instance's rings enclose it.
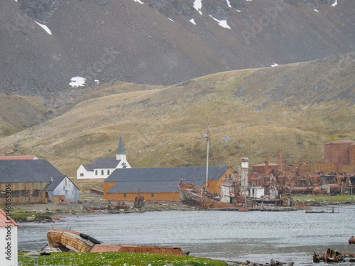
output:
{"label": "rusty overturned boat wreck lying on the near grassy shore", "polygon": [[47,233],[48,246],[63,252],[132,252],[188,255],[181,248],[151,245],[105,244],[89,235],[62,228],[51,228]]}

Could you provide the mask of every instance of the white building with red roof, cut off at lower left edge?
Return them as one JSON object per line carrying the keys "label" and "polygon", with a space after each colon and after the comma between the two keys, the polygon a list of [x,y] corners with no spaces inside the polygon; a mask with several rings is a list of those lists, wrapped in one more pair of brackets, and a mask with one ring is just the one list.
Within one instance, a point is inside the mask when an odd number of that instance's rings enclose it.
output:
{"label": "white building with red roof, cut off at lower left edge", "polygon": [[0,209],[0,265],[17,265],[17,223]]}

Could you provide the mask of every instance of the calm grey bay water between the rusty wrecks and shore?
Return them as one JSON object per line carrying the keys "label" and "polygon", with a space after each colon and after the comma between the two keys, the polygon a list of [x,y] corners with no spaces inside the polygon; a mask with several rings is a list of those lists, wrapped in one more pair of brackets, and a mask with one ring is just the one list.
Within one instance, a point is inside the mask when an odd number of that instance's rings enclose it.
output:
{"label": "calm grey bay water between the rusty wrecks and shore", "polygon": [[354,205],[335,206],[334,214],[152,211],[65,216],[51,224],[21,223],[18,248],[40,250],[47,244],[46,233],[52,226],[80,231],[104,243],[174,245],[190,255],[229,261],[266,263],[273,258],[295,265],[323,265],[312,262],[313,253],[327,248],[355,253],[355,245],[348,244],[355,235]]}

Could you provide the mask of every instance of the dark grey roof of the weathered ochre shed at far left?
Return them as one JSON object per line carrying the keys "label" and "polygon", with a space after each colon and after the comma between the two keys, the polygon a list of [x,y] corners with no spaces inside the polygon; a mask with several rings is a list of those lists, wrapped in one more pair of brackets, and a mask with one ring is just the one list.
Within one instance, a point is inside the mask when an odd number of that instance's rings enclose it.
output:
{"label": "dark grey roof of the weathered ochre shed at far left", "polygon": [[0,160],[0,183],[54,182],[65,177],[47,160]]}

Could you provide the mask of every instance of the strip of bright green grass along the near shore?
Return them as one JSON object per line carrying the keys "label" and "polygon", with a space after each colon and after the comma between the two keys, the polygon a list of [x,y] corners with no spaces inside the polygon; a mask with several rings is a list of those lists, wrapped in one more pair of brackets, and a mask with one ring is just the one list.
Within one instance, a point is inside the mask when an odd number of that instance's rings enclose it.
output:
{"label": "strip of bright green grass along the near shore", "polygon": [[[26,252],[19,252],[18,255],[25,255]],[[63,259],[64,258],[64,259]],[[35,257],[19,257],[18,262],[33,262]],[[38,265],[64,265],[68,266],[226,266],[226,262],[212,260],[203,257],[155,254],[155,253],[126,253],[126,252],[104,252],[104,253],[51,253],[49,256],[38,257]],[[45,262],[45,263],[44,263]]]}

